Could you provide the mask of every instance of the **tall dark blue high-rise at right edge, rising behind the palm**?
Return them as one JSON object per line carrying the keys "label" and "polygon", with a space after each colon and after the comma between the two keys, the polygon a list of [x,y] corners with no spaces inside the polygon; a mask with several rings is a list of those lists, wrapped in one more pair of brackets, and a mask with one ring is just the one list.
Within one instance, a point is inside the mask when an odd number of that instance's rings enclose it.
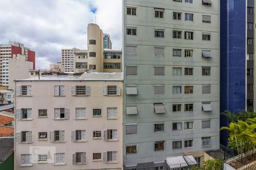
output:
{"label": "tall dark blue high-rise at right edge, rising behind the palm", "polygon": [[[221,1],[220,111],[255,111],[255,1]],[[228,126],[221,116],[221,126]],[[228,132],[221,131],[221,144]]]}

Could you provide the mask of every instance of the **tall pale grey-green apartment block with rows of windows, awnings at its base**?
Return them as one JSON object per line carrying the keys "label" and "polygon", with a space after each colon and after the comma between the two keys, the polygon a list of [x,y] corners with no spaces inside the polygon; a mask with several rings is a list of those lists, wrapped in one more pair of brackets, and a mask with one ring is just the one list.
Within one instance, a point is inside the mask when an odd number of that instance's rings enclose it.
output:
{"label": "tall pale grey-green apartment block with rows of windows, awnings at its base", "polygon": [[123,1],[126,169],[200,165],[219,148],[219,3]]}

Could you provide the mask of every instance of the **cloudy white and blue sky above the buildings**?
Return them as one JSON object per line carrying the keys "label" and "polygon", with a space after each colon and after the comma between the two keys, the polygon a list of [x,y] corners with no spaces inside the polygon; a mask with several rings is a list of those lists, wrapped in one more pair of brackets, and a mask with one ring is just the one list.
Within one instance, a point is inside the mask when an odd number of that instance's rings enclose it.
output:
{"label": "cloudy white and blue sky above the buildings", "polygon": [[122,44],[122,0],[0,0],[0,44],[20,41],[36,52],[36,69],[61,60],[61,48],[86,49],[88,23]]}

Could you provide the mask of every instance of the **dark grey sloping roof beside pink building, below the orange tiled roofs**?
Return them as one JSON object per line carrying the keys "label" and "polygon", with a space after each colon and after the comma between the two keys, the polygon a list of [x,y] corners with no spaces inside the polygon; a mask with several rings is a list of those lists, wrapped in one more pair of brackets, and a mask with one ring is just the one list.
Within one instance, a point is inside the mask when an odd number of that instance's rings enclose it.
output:
{"label": "dark grey sloping roof beside pink building, below the orange tiled roofs", "polygon": [[0,138],[0,163],[3,162],[14,150],[14,137]]}

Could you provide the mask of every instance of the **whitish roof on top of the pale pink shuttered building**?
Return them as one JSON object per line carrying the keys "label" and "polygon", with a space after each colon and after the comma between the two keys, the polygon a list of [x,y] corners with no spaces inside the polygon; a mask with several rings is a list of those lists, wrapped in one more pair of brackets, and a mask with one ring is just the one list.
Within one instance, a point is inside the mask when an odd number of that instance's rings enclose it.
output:
{"label": "whitish roof on top of the pale pink shuttered building", "polygon": [[122,81],[123,73],[84,73],[80,76],[77,75],[41,75],[40,79],[38,76],[31,77],[28,79],[18,79],[16,82],[26,81]]}

